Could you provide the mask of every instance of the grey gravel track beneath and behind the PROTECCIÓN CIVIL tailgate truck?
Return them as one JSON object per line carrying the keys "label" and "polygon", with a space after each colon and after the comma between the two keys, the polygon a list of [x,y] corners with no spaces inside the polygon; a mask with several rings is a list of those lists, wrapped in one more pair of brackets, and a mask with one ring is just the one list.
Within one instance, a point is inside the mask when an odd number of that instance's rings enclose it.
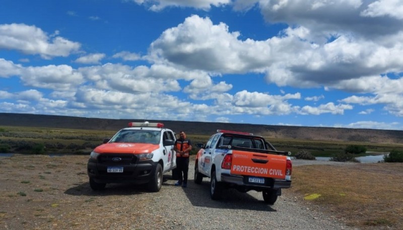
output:
{"label": "grey gravel track beneath and behind the PROTECCI\u00d3N CIVIL tailgate truck", "polygon": [[[294,166],[308,164],[341,164],[294,160]],[[189,175],[193,179],[193,162]],[[192,181],[187,188],[174,187],[175,181],[164,183],[161,196],[170,205],[161,207],[167,225],[173,229],[357,229],[343,224],[334,216],[304,206],[292,194],[283,190],[283,195],[273,206],[263,202],[261,193],[240,193],[226,190],[221,201],[210,199],[210,179],[204,178],[201,185]],[[166,196],[164,194],[174,194]]]}

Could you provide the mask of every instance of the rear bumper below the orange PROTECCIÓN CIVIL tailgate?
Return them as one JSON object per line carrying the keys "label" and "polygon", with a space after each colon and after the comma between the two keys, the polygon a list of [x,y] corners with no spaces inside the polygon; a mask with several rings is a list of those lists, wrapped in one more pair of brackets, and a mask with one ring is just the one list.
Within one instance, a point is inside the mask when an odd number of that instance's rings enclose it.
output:
{"label": "rear bumper below the orange PROTECCI\u00d3N CIVIL tailgate", "polygon": [[230,174],[221,174],[221,181],[237,186],[246,186],[252,190],[256,189],[281,189],[290,188],[290,180],[277,180],[273,178],[264,178],[264,184],[250,183],[248,176],[238,176]]}

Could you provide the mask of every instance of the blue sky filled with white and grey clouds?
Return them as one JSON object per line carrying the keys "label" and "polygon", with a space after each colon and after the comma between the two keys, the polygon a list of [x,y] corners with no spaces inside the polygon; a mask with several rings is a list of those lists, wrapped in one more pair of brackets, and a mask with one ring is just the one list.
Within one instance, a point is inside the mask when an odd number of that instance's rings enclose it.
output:
{"label": "blue sky filled with white and grey clouds", "polygon": [[399,0],[2,0],[0,112],[403,129]]}

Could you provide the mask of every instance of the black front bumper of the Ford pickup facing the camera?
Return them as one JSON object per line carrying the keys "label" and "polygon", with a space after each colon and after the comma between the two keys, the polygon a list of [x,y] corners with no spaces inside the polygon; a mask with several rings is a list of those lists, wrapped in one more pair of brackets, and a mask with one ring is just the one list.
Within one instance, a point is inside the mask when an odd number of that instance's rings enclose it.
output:
{"label": "black front bumper of the Ford pickup facing the camera", "polygon": [[[90,159],[87,174],[97,183],[148,183],[155,174],[158,162],[139,161],[136,164],[118,165],[99,163]],[[123,167],[123,173],[108,173],[108,167]]]}

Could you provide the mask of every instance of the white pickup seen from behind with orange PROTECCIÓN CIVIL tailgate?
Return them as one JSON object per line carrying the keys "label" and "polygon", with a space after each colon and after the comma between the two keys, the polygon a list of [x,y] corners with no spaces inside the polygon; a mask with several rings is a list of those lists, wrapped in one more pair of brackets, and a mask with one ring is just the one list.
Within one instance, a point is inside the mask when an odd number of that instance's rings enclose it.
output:
{"label": "white pickup seen from behind with orange PROTECCI\u00d3N CIVIL tailgate", "polygon": [[278,151],[261,136],[217,130],[200,150],[194,164],[194,182],[210,178],[210,195],[221,198],[225,188],[240,192],[262,192],[265,203],[273,205],[282,188],[291,187],[290,152]]}

